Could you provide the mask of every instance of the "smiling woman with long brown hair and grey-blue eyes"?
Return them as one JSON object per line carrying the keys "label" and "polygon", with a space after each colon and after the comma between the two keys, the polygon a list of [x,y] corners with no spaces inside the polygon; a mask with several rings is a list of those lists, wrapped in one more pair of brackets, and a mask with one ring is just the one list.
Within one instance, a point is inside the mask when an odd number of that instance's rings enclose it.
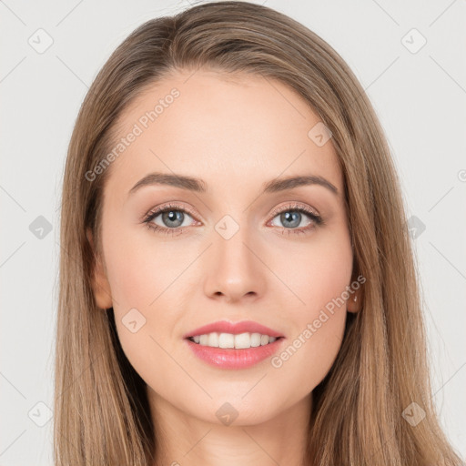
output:
{"label": "smiling woman with long brown hair and grey-blue eyes", "polygon": [[318,35],[242,2],[138,27],[66,160],[56,464],[461,464],[405,221]]}

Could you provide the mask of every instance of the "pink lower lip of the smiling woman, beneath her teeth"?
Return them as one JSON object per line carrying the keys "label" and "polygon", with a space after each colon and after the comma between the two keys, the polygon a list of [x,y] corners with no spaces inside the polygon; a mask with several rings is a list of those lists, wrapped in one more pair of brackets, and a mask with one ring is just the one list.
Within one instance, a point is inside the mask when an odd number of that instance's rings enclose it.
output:
{"label": "pink lower lip of the smiling woman, beneath her teeth", "polygon": [[248,349],[212,348],[199,345],[186,339],[189,348],[208,364],[221,369],[246,369],[263,360],[267,360],[279,350],[284,338],[276,339],[273,343]]}

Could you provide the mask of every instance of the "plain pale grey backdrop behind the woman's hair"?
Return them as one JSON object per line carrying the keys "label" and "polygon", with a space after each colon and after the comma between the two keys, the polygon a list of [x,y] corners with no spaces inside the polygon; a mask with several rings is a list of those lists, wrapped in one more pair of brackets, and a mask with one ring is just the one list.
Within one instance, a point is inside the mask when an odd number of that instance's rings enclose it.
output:
{"label": "plain pale grey backdrop behind the woman's hair", "polygon": [[[410,216],[433,397],[451,443],[466,457],[466,4],[265,5],[329,42],[380,117]],[[0,1],[2,466],[53,463],[59,208],[79,106],[130,32],[187,6],[167,0]]]}

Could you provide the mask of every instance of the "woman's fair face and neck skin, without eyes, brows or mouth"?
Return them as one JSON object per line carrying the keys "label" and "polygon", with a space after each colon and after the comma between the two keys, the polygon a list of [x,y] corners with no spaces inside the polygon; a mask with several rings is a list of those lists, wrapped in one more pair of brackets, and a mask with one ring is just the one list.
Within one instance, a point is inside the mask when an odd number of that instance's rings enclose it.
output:
{"label": "woman's fair face and neck skin, without eyes, brows or mouth", "polygon": [[[319,117],[288,86],[206,69],[178,71],[145,90],[118,122],[119,136],[174,87],[180,96],[107,168],[96,303],[114,308],[122,348],[147,382],[162,446],[157,464],[298,466],[312,390],[338,354],[346,312],[359,310],[357,294],[279,368],[270,360],[245,370],[211,367],[183,335],[220,319],[255,320],[281,332],[286,349],[349,286],[353,254],[337,156],[331,139],[319,147],[308,137]],[[128,196],[155,171],[202,178],[208,191],[153,185]],[[325,177],[339,194],[319,185],[260,194],[263,183],[298,175]],[[141,221],[168,202],[188,212],[175,235]],[[286,228],[271,215],[296,203],[324,225],[301,214],[298,227]],[[239,228],[228,240],[215,229],[225,215]],[[162,215],[152,222],[174,228]],[[146,319],[136,333],[122,322],[134,308]],[[238,411],[229,426],[216,416],[226,402]]]}

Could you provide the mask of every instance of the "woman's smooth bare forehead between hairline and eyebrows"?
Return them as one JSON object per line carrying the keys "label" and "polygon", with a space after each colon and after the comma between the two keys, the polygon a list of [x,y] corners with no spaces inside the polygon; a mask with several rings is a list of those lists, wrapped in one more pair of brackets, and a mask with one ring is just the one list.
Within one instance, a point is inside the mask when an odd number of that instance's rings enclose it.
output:
{"label": "woman's smooth bare forehead between hairline and eyebrows", "polygon": [[277,80],[174,72],[145,88],[118,119],[111,149],[120,141],[121,151],[107,184],[129,190],[151,171],[173,172],[238,194],[239,185],[257,187],[259,179],[313,174],[341,191],[331,138],[317,145],[316,125],[309,104]]}

